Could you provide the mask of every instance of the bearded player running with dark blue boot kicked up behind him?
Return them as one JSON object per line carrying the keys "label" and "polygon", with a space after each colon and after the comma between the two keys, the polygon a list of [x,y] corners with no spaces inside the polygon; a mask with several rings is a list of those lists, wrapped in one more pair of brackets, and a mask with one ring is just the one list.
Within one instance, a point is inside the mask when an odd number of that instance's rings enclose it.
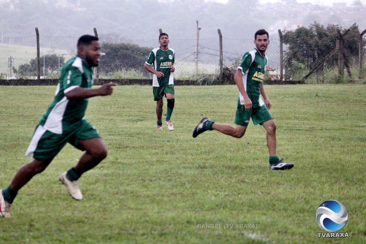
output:
{"label": "bearded player running with dark blue boot kicked up behind him", "polygon": [[[250,118],[254,125],[262,125],[267,131],[267,145],[269,150],[269,167],[273,170],[285,170],[294,167],[294,164],[285,163],[276,155],[276,125],[268,111],[270,103],[263,86],[266,71],[269,44],[268,32],[261,29],[254,35],[255,48],[244,53],[242,63],[237,68],[234,80],[239,89],[238,107],[234,123],[236,127],[219,124],[208,118],[203,118],[193,130],[193,137],[197,137],[206,130],[218,130],[229,136],[241,138],[244,136]],[[262,95],[264,101],[261,99]]]}

